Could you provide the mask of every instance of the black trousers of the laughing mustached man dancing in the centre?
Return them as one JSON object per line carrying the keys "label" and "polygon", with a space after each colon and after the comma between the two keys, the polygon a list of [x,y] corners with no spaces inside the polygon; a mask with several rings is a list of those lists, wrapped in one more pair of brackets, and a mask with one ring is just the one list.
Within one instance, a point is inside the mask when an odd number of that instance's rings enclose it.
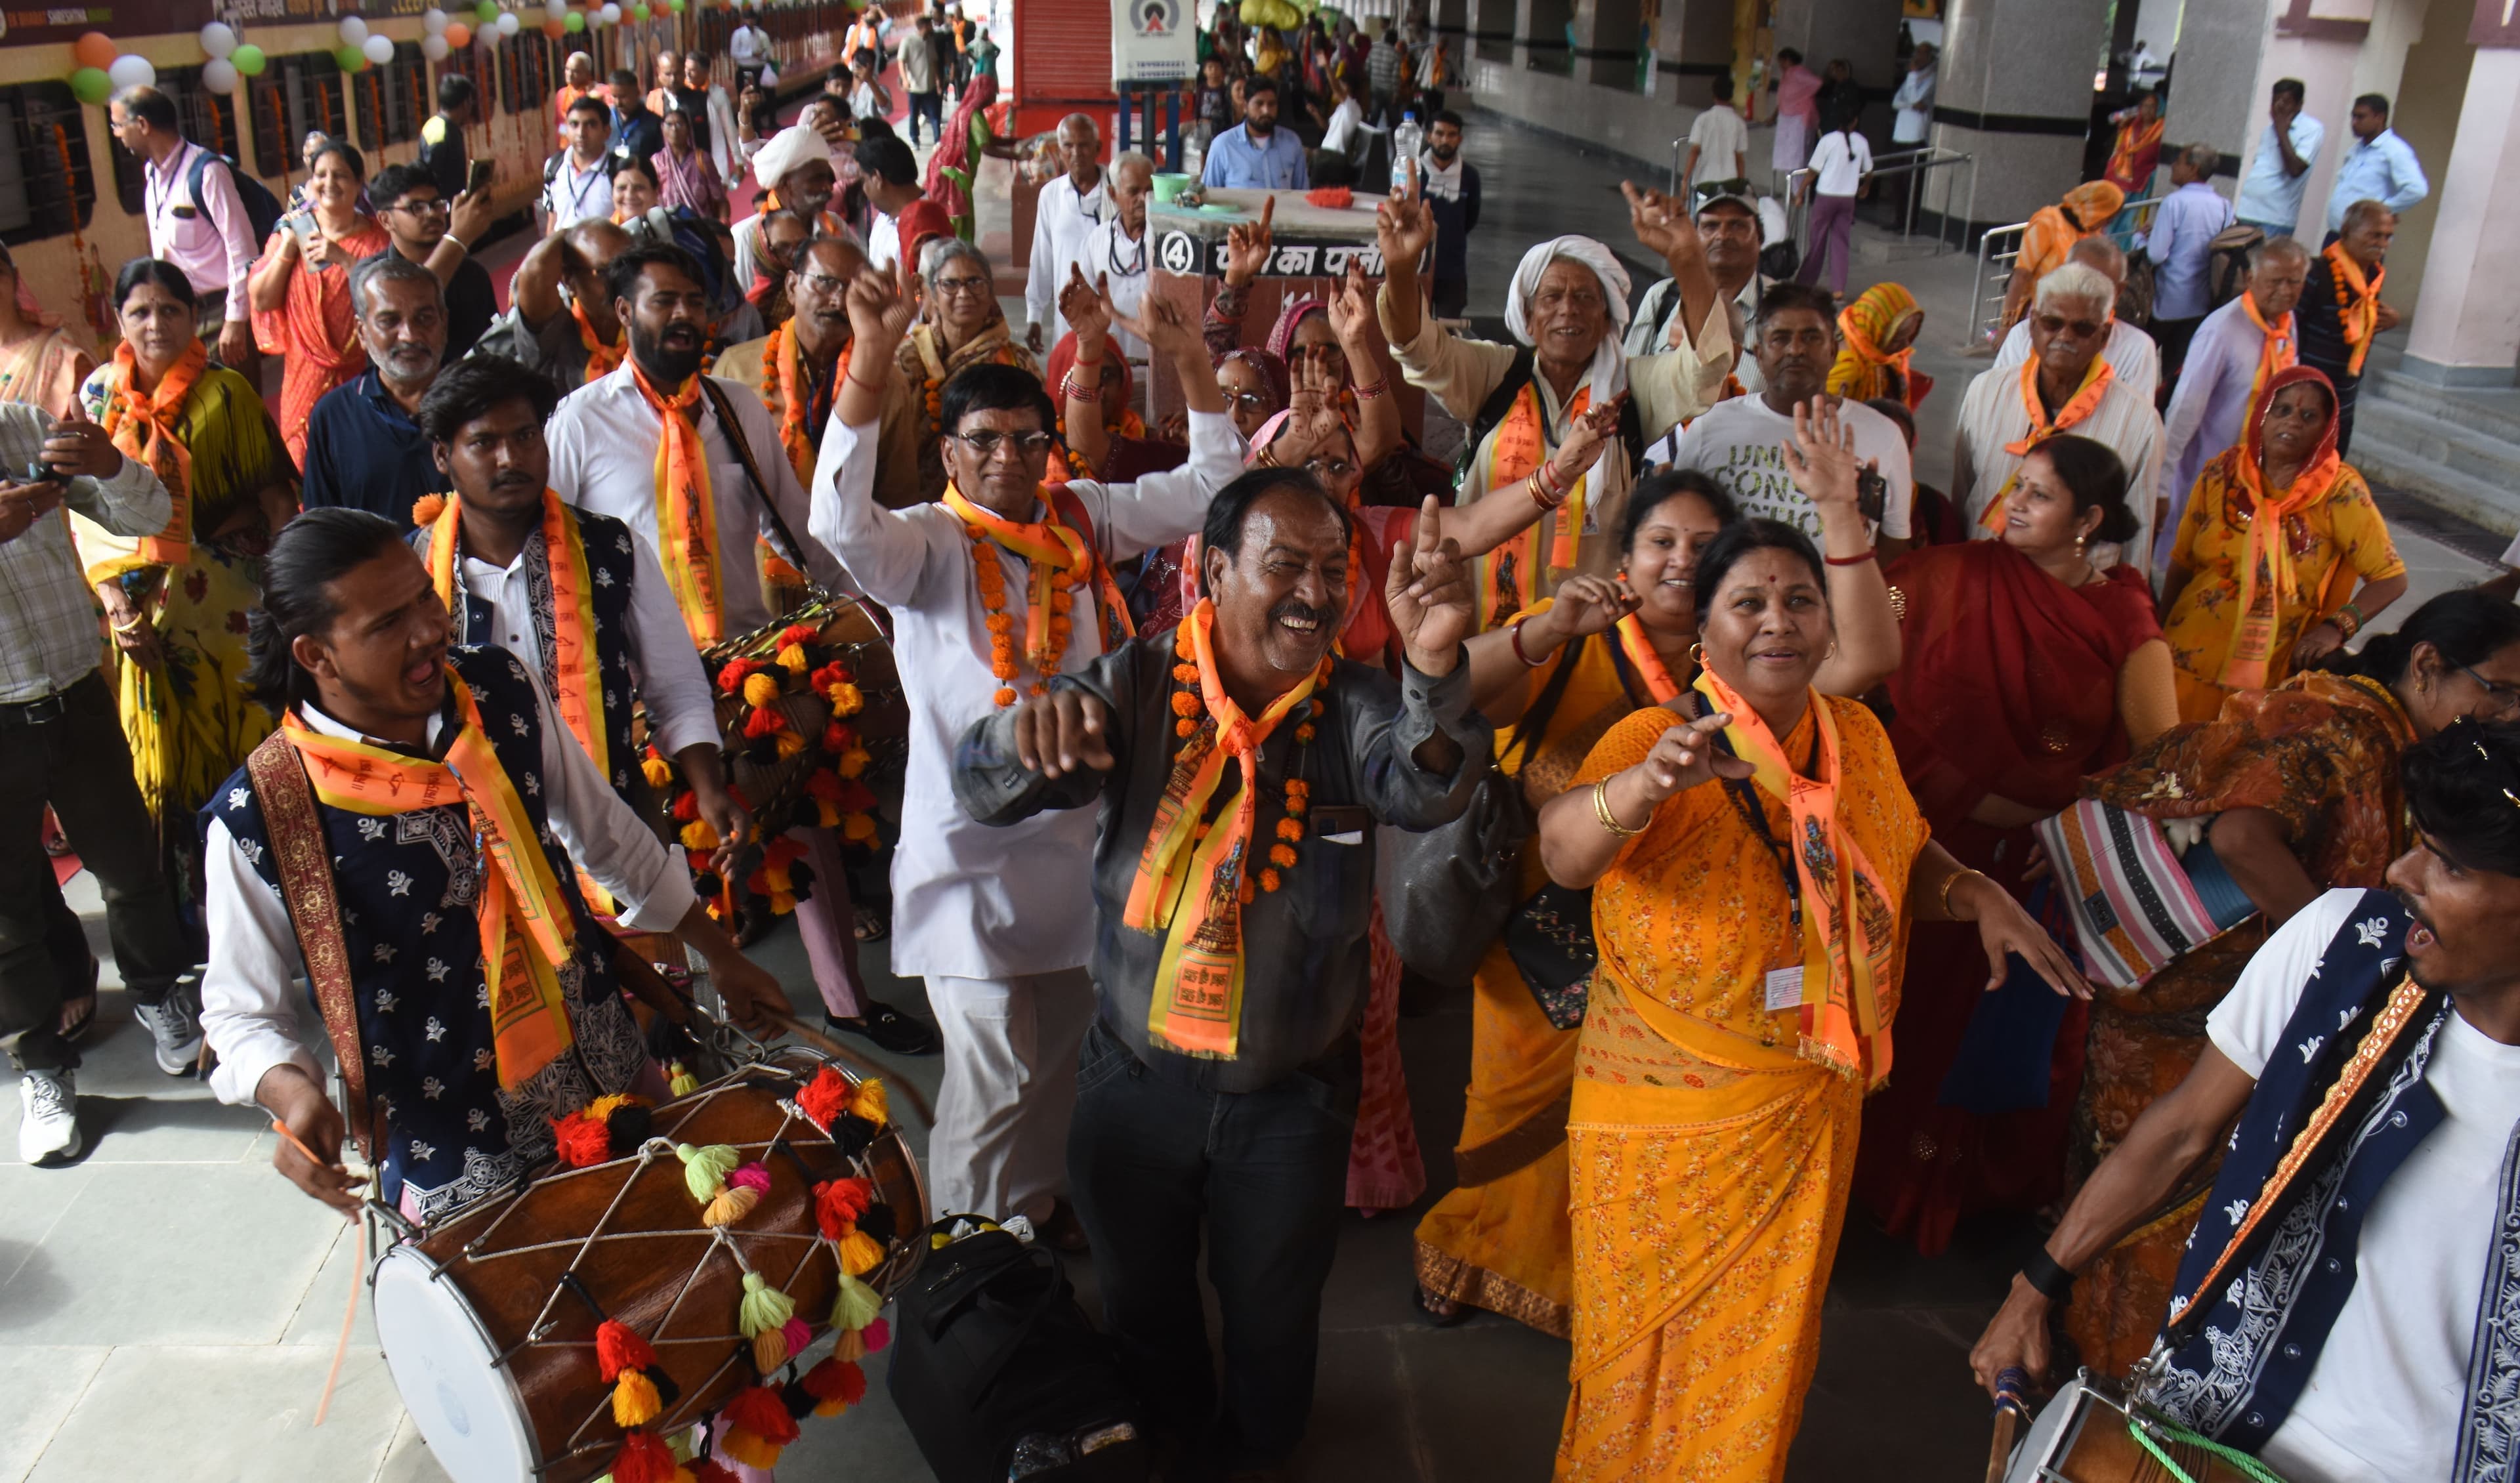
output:
{"label": "black trousers of the laughing mustached man dancing in the centre", "polygon": [[[1361,1063],[1257,1093],[1172,1083],[1096,1022],[1076,1073],[1068,1178],[1104,1322],[1147,1423],[1227,1465],[1283,1463],[1313,1415],[1320,1289],[1338,1251]],[[1225,1319],[1222,1410],[1200,1304],[1200,1236]]]}

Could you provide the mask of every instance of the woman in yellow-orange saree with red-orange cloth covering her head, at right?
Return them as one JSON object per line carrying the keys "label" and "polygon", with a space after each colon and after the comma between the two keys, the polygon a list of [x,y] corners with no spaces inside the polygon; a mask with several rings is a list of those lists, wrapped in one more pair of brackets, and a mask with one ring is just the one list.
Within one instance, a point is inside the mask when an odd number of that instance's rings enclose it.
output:
{"label": "woman in yellow-orange saree with red-orange cloth covering her head, at right", "polygon": [[2336,388],[2308,365],[2278,370],[2240,446],[2197,476],[2170,546],[2162,629],[2180,720],[2213,720],[2233,690],[2283,685],[2404,594],[2407,564],[2371,486],[2336,456]]}

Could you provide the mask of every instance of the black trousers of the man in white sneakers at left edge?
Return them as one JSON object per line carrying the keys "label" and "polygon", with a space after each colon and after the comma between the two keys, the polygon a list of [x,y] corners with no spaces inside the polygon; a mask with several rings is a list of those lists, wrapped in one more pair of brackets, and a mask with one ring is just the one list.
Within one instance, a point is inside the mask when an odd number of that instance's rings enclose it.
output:
{"label": "black trousers of the man in white sneakers at left edge", "polygon": [[192,967],[159,831],[131,778],[113,695],[101,675],[60,692],[60,715],[0,713],[0,1047],[18,1070],[63,1070],[78,1052],[55,1035],[60,1002],[88,984],[88,944],[43,854],[43,806],[106,896],[113,964],[144,1005]]}

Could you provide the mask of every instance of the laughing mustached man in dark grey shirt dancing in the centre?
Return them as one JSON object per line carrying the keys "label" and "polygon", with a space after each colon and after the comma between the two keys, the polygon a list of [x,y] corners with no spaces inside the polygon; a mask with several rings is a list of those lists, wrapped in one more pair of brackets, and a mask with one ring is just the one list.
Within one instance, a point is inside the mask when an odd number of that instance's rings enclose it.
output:
{"label": "laughing mustached man in dark grey shirt dancing in the centre", "polygon": [[955,763],[980,823],[1099,816],[1068,1176],[1157,1435],[1232,1478],[1275,1478],[1313,1402],[1363,1075],[1373,826],[1457,818],[1492,743],[1462,647],[1469,567],[1431,499],[1383,584],[1399,680],[1333,657],[1348,519],[1303,468],[1235,478],[1182,627],[983,715]]}

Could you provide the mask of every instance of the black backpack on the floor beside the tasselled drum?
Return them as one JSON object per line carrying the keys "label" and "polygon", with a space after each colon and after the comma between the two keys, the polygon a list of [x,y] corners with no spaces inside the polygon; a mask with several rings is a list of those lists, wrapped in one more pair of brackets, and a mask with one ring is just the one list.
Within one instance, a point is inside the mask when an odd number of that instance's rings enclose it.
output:
{"label": "black backpack on the floor beside the tasselled drum", "polygon": [[892,1405],[937,1483],[1147,1483],[1137,1400],[1056,1251],[963,1236],[897,1302]]}

